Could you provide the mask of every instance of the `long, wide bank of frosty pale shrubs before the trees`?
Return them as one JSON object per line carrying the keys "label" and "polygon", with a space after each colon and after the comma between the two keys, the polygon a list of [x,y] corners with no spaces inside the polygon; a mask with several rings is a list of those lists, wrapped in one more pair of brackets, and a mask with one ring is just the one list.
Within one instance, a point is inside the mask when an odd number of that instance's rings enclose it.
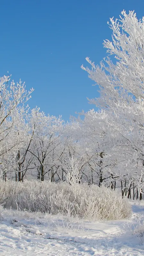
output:
{"label": "long, wide bank of frosty pale shrubs before the trees", "polygon": [[131,214],[128,202],[109,188],[65,182],[0,181],[0,204],[6,208],[61,213],[89,220],[124,219]]}

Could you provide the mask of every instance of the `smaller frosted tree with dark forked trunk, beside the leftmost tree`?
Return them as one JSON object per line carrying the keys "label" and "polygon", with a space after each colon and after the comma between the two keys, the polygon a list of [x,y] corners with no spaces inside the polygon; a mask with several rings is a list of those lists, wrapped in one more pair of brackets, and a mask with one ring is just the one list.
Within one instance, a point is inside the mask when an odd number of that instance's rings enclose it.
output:
{"label": "smaller frosted tree with dark forked trunk, beside the leftmost tree", "polygon": [[33,164],[37,178],[44,181],[47,174],[49,178],[51,177],[51,181],[55,181],[55,175],[58,174],[59,169],[57,161],[61,155],[59,149],[63,120],[61,117],[46,116],[44,112],[36,108],[31,112],[29,124],[35,127],[33,141],[28,152],[34,157]]}

